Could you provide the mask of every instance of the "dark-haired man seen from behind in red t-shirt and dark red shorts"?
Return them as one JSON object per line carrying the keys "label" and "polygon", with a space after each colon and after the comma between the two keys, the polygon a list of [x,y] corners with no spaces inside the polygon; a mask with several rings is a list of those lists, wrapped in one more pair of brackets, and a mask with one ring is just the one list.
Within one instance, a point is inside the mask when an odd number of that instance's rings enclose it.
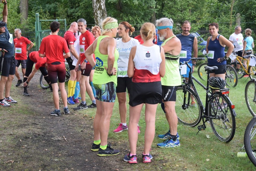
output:
{"label": "dark-haired man seen from behind in red t-shirt and dark red shorts", "polygon": [[[65,58],[70,56],[66,40],[58,36],[59,22],[53,21],[50,24],[51,35],[43,38],[38,50],[40,57],[46,57],[47,70],[53,88],[53,102],[55,110],[50,113],[52,116],[61,116],[59,110],[59,93],[64,104],[64,114],[69,114],[67,104],[67,92],[65,90],[66,67]],[[63,50],[66,54],[63,55]],[[59,80],[59,86],[58,86]]]}

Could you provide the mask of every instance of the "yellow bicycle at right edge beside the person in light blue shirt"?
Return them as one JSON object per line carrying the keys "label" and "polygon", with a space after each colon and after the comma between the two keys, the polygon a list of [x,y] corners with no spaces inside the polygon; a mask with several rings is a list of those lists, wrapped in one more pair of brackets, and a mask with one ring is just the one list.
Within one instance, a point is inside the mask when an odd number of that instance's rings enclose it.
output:
{"label": "yellow bicycle at right edge beside the person in light blue shirt", "polygon": [[[254,54],[254,55],[250,54],[250,55],[246,55],[246,56],[240,57],[240,56],[237,55],[236,51],[233,51],[231,53],[231,56],[236,57],[236,58],[234,58],[234,61],[231,62],[228,65],[232,65],[236,69],[237,73],[239,74],[238,79],[242,78],[245,75],[249,75],[250,79],[253,79],[253,78],[256,79],[256,76],[255,76],[255,74],[256,74],[256,67],[255,66],[250,66],[249,65],[250,62],[249,62],[249,59],[248,59],[249,57],[251,57],[251,60],[255,60],[256,59],[255,55],[256,54]],[[245,66],[245,64],[243,64],[241,62],[242,59],[246,61],[246,65],[247,66]],[[239,69],[237,69],[237,64],[239,64],[241,66]]]}

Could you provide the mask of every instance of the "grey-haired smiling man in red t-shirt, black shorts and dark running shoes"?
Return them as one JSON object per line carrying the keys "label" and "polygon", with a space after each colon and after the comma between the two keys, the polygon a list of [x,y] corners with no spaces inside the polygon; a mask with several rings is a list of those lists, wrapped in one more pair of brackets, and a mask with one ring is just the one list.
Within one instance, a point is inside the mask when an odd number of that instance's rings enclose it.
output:
{"label": "grey-haired smiling man in red t-shirt, black shorts and dark running shoes", "polygon": [[[79,38],[80,55],[79,55],[78,62],[76,64],[76,70],[80,63],[82,73],[81,73],[81,78],[79,80],[79,84],[80,84],[80,93],[81,93],[82,99],[81,99],[81,104],[78,105],[77,107],[74,107],[73,109],[74,110],[84,110],[84,109],[87,109],[88,107],[89,108],[96,107],[96,100],[94,98],[93,90],[89,83],[89,76],[92,71],[92,66],[86,60],[86,56],[84,55],[85,50],[91,44],[93,44],[93,41],[95,40],[95,38],[94,38],[93,34],[86,29],[85,19],[83,19],[83,18],[78,19],[77,23],[78,23],[78,31],[81,32],[81,35]],[[94,55],[93,55],[93,57],[94,57]],[[95,57],[94,57],[94,60],[95,60]],[[86,91],[92,100],[92,104],[90,104],[89,106],[87,106],[86,101],[85,101]]]}

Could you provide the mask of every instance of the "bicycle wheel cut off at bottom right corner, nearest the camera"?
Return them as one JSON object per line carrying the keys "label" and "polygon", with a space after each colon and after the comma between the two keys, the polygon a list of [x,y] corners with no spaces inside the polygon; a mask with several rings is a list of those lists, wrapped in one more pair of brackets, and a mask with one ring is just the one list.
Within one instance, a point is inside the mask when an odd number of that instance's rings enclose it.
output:
{"label": "bicycle wheel cut off at bottom right corner, nearest the camera", "polygon": [[256,117],[251,119],[245,129],[244,145],[245,151],[251,163],[256,166]]}

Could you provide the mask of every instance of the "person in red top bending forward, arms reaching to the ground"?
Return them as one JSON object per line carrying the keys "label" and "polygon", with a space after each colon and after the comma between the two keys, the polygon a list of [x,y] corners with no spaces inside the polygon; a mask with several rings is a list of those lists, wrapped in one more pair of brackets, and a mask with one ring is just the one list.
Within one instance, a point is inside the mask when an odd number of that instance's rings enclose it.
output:
{"label": "person in red top bending forward, arms reaching to the ground", "polygon": [[[34,63],[36,64],[35,64],[35,68],[33,69]],[[23,78],[23,87],[24,87],[23,95],[24,96],[30,96],[27,91],[27,87],[30,80],[33,78],[33,76],[35,75],[38,69],[41,71],[45,81],[50,85],[50,88],[52,89],[51,82],[50,82],[47,70],[45,68],[45,64],[46,64],[46,58],[41,58],[37,51],[29,53],[27,64],[26,64],[26,73]]]}

